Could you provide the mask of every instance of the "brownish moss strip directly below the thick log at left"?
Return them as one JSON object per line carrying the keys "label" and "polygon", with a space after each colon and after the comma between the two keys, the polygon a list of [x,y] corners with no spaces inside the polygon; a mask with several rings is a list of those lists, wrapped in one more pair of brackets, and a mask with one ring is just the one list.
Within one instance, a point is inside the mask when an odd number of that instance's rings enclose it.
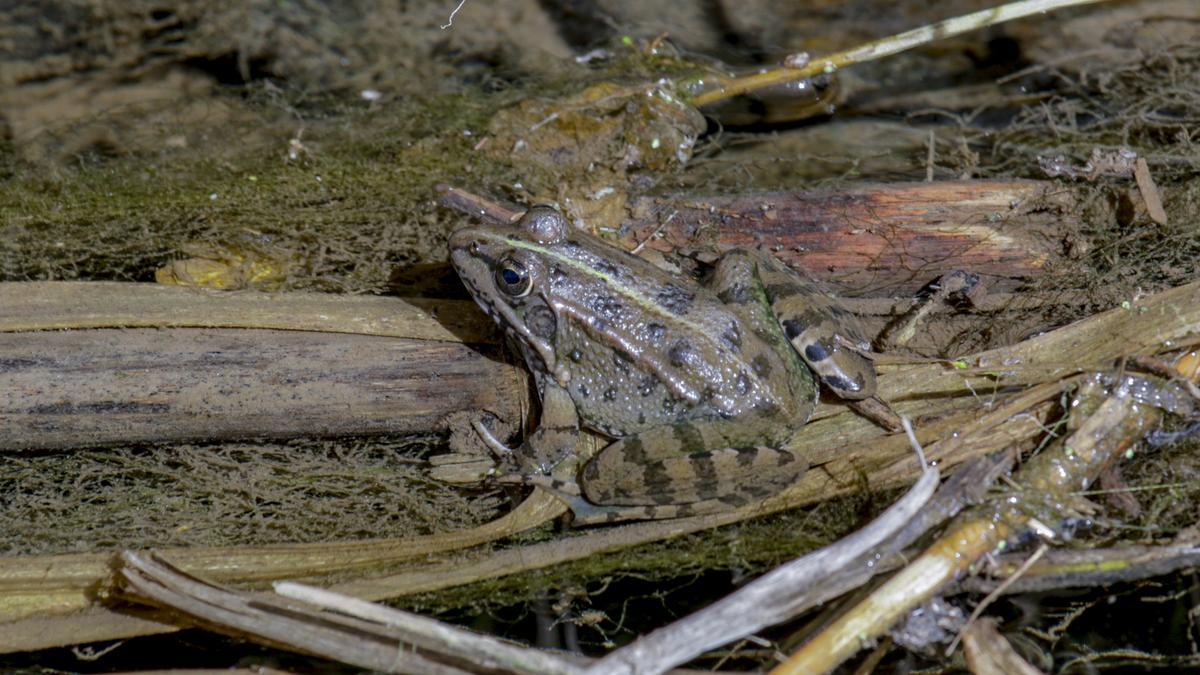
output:
{"label": "brownish moss strip directly below the thick log at left", "polygon": [[126,447],[6,458],[4,555],[413,537],[494,518],[428,478],[437,438]]}

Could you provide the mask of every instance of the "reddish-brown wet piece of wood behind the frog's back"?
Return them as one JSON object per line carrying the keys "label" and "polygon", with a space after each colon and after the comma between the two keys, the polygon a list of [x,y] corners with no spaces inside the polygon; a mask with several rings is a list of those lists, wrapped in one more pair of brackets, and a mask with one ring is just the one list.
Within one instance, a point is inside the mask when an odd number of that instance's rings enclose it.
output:
{"label": "reddish-brown wet piece of wood behind the frog's back", "polygon": [[649,246],[764,246],[814,277],[872,295],[907,295],[959,269],[1008,291],[1086,247],[1074,195],[1042,181],[640,197],[632,204],[630,237],[654,234]]}

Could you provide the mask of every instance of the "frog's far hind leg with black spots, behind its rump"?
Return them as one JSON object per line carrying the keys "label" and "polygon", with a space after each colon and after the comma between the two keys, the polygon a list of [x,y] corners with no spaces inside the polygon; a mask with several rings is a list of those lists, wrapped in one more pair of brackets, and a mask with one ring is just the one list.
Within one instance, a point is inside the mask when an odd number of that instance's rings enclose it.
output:
{"label": "frog's far hind leg with black spots, behind its rump", "polygon": [[826,387],[852,401],[875,395],[875,365],[864,356],[871,345],[853,312],[815,281],[768,255],[731,255],[744,256],[742,264],[755,264],[784,335]]}

